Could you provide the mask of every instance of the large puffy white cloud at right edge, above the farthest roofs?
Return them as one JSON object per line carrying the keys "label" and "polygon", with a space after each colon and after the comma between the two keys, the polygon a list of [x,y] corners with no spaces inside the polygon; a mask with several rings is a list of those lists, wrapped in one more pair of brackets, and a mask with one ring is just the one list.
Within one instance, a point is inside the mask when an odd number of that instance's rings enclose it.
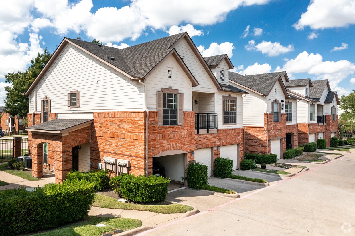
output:
{"label": "large puffy white cloud at right edge, above the farthest roofs", "polygon": [[355,73],[355,64],[347,60],[323,61],[320,54],[304,51],[295,59],[287,61],[282,68],[278,66],[276,71],[286,71],[290,77],[293,73],[313,74],[313,79],[328,79],[331,88],[335,88],[339,82]]}

